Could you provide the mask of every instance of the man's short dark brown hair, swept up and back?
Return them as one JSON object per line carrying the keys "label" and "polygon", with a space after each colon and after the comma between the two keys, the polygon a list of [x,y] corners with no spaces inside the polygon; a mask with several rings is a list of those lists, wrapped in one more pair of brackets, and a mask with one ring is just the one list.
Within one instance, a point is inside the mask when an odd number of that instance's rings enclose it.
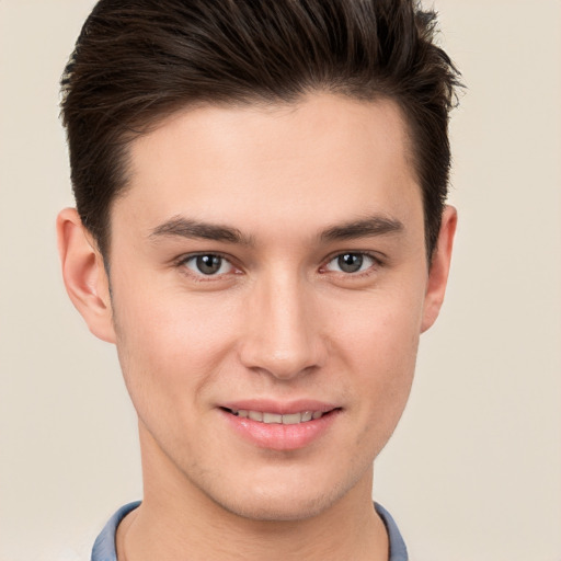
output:
{"label": "man's short dark brown hair, swept up and back", "polygon": [[73,193],[103,255],[129,142],[196,103],[290,103],[310,91],[398,103],[432,255],[448,190],[458,72],[414,0],[101,0],[62,76]]}

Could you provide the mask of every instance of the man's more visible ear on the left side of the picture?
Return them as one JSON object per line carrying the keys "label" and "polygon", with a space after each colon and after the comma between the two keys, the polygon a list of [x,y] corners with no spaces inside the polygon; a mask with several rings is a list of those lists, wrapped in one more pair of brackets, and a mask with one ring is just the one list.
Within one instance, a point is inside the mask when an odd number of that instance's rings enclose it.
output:
{"label": "man's more visible ear on the left side of the picture", "polygon": [[66,290],[90,331],[115,343],[110,284],[103,257],[76,208],[57,217],[58,253]]}

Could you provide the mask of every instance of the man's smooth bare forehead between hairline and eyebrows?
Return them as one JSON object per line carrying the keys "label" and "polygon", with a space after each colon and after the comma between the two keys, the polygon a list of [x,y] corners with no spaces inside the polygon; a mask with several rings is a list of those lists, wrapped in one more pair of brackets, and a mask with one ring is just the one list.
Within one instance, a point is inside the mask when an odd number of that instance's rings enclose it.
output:
{"label": "man's smooth bare forehead between hairline and eyebrows", "polygon": [[153,229],[183,215],[270,231],[360,214],[402,220],[421,208],[408,145],[401,112],[386,100],[313,94],[188,108],[133,142],[129,188],[112,218],[134,215]]}

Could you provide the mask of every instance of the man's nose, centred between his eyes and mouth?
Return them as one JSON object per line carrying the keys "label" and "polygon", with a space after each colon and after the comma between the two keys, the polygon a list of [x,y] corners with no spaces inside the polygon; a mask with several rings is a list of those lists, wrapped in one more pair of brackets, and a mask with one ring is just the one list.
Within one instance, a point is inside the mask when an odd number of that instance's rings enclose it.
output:
{"label": "man's nose, centred between his eyes and mouth", "polygon": [[247,368],[290,380],[321,367],[325,344],[313,294],[296,275],[261,279],[249,297],[240,359]]}

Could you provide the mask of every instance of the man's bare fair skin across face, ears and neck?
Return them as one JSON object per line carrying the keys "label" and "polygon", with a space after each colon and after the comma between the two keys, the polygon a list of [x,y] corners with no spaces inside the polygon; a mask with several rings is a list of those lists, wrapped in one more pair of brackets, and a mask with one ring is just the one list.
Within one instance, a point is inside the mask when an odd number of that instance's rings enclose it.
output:
{"label": "man's bare fair skin across face, ears and neck", "polygon": [[[119,559],[388,558],[373,462],[438,314],[456,227],[447,207],[428,267],[407,146],[389,101],[317,93],[173,115],[131,146],[111,297],[76,210],[59,215],[68,293],[116,344],[138,413],[145,497],[118,529]],[[218,274],[197,270],[199,252],[225,259]],[[345,253],[360,271],[341,268]],[[241,399],[339,409],[310,445],[274,450],[229,426],[220,404]]]}

